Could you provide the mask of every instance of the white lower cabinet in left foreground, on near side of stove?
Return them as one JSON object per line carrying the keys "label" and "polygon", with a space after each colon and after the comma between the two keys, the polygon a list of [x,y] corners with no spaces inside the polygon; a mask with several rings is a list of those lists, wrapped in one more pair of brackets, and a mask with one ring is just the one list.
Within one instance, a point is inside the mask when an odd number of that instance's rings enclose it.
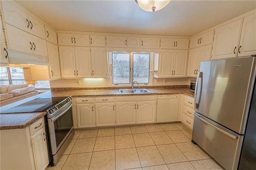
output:
{"label": "white lower cabinet in left foreground, on near side of stove", "polygon": [[0,147],[0,169],[46,169],[49,158],[44,118],[24,129],[1,130]]}

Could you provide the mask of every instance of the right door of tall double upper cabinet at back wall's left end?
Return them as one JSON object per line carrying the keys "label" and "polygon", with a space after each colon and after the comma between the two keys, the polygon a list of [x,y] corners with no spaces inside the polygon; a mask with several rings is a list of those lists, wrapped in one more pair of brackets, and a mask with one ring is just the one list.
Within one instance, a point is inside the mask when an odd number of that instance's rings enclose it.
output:
{"label": "right door of tall double upper cabinet at back wall's left end", "polygon": [[91,77],[90,47],[75,47],[76,77]]}

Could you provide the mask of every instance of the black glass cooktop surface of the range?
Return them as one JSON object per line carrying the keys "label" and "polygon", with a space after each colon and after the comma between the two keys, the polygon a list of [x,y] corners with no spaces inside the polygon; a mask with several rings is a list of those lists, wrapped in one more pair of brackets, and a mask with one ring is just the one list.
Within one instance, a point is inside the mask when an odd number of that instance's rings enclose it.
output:
{"label": "black glass cooktop surface of the range", "polygon": [[37,112],[37,111],[46,111],[52,106],[62,102],[68,97],[42,97],[36,98],[24,104],[12,107],[1,111],[0,113],[27,113],[27,112]]}

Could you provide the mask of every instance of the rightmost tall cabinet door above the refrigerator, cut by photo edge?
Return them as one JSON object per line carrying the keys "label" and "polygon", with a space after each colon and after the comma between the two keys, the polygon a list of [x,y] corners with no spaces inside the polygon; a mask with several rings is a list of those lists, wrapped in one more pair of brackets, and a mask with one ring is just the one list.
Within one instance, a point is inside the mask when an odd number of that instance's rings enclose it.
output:
{"label": "rightmost tall cabinet door above the refrigerator, cut by photo edge", "polygon": [[256,54],[256,14],[244,18],[238,57]]}

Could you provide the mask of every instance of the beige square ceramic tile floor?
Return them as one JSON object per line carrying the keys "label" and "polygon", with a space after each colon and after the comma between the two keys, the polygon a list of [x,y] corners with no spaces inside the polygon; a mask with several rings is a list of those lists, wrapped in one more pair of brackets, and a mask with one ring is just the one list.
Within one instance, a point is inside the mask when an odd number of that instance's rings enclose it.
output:
{"label": "beige square ceramic tile floor", "polygon": [[76,130],[46,170],[221,170],[182,123]]}

